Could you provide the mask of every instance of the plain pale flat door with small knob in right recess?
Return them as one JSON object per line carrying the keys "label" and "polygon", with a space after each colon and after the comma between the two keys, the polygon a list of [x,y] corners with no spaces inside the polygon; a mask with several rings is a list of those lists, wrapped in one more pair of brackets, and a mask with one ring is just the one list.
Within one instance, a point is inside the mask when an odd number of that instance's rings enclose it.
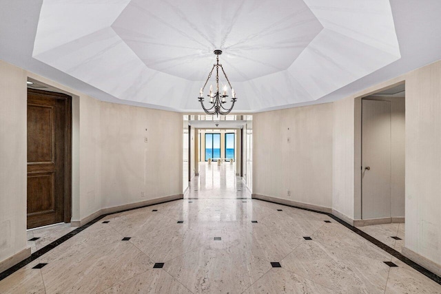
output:
{"label": "plain pale flat door with small knob in right recess", "polygon": [[391,217],[391,103],[362,100],[362,219]]}

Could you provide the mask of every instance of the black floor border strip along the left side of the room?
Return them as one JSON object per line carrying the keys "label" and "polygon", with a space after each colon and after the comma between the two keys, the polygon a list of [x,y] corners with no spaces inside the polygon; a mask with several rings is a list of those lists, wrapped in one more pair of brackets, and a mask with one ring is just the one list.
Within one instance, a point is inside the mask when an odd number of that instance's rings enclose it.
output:
{"label": "black floor border strip along the left side of the room", "polygon": [[12,275],[12,273],[15,273],[16,271],[21,269],[23,266],[25,266],[27,264],[30,264],[31,262],[33,262],[34,260],[39,258],[41,255],[44,255],[45,253],[48,253],[49,251],[51,251],[55,247],[59,246],[59,244],[61,244],[61,243],[65,242],[65,241],[69,240],[70,238],[74,237],[74,235],[76,235],[77,233],[80,233],[81,231],[84,231],[85,229],[88,229],[88,227],[92,226],[92,224],[94,224],[95,222],[98,222],[99,220],[105,218],[106,216],[111,216],[112,214],[115,214],[115,213],[121,213],[121,212],[125,212],[125,211],[141,209],[141,208],[150,207],[150,206],[153,206],[153,205],[163,204],[163,203],[177,201],[177,200],[183,200],[183,199],[166,200],[166,201],[161,201],[161,202],[156,202],[156,203],[152,203],[152,204],[143,205],[143,206],[140,206],[140,207],[132,207],[130,209],[123,209],[123,210],[120,210],[120,211],[114,211],[114,212],[102,214],[101,216],[99,216],[97,218],[94,218],[94,220],[91,220],[87,224],[84,224],[83,226],[78,227],[78,228],[74,229],[73,231],[70,231],[69,233],[63,235],[61,238],[59,238],[59,239],[55,240],[54,242],[44,246],[42,249],[39,249],[39,250],[35,251],[34,253],[32,253],[30,255],[30,257],[26,258],[25,260],[22,260],[18,264],[15,264],[14,266],[11,266],[9,269],[6,269],[6,271],[3,271],[2,273],[0,273],[0,281],[5,279],[9,275]]}

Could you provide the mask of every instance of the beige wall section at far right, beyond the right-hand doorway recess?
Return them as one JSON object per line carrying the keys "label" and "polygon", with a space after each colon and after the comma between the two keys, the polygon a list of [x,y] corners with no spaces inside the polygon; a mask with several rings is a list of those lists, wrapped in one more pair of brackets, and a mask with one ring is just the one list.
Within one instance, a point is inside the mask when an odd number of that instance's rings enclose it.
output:
{"label": "beige wall section at far right, beyond the right-hand doorway recess", "polygon": [[406,76],[405,246],[441,274],[441,62]]}

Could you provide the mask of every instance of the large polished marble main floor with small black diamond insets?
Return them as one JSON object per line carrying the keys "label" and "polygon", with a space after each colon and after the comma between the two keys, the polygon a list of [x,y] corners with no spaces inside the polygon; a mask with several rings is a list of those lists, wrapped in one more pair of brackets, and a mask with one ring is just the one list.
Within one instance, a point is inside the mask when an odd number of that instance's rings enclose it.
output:
{"label": "large polished marble main floor with small black diamond insets", "polygon": [[229,163],[193,181],[184,200],[92,224],[0,293],[441,293],[324,214],[249,199]]}

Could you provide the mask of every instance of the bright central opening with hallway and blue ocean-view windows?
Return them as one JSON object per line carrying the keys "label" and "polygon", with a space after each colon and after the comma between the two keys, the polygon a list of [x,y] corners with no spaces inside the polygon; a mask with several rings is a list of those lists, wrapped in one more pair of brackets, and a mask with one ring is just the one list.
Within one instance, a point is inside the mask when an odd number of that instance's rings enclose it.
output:
{"label": "bright central opening with hallway and blue ocean-view windows", "polygon": [[[183,177],[184,182],[191,179],[188,181],[190,185],[184,184],[184,194],[187,188],[201,185],[202,178],[206,179],[208,176],[207,168],[210,168],[209,172],[213,174],[217,167],[223,168],[228,177],[231,176],[235,182],[240,182],[245,190],[251,193],[252,116],[184,115],[184,121],[184,142],[188,140],[189,145],[184,145],[184,153],[188,155],[185,155],[183,165],[185,171],[188,165],[192,167],[191,175]],[[190,133],[191,139],[186,133]],[[202,176],[201,169],[204,169]],[[220,173],[219,176],[222,178],[223,174]],[[213,180],[216,180],[216,177]]]}

